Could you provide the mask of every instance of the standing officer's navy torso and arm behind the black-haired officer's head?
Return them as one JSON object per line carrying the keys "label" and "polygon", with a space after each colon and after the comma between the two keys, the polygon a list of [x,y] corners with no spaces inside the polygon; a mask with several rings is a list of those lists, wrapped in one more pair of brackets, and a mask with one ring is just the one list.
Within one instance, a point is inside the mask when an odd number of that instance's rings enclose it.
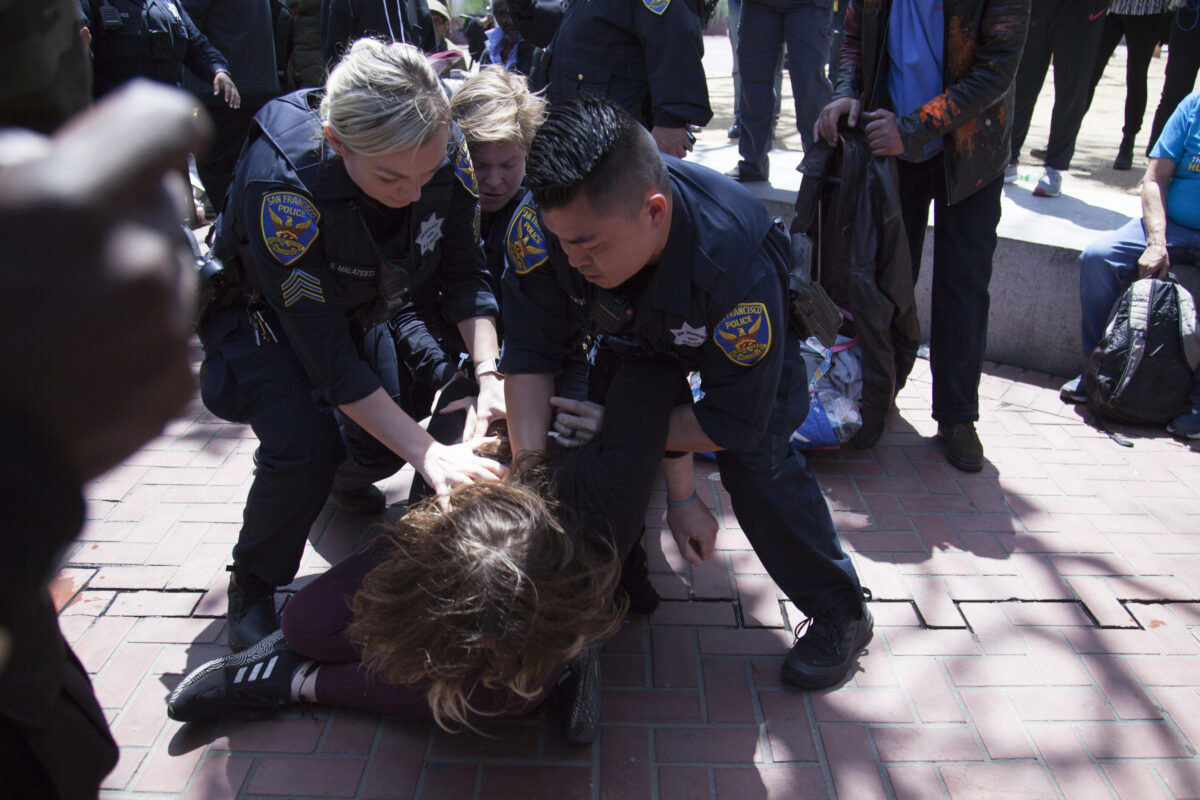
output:
{"label": "standing officer's navy torso and arm behind the black-haired officer's head", "polygon": [[[704,42],[695,0],[511,0],[521,35],[550,47],[550,102],[604,95],[683,158],[688,126],[708,125]],[[551,42],[553,44],[551,46]]]}

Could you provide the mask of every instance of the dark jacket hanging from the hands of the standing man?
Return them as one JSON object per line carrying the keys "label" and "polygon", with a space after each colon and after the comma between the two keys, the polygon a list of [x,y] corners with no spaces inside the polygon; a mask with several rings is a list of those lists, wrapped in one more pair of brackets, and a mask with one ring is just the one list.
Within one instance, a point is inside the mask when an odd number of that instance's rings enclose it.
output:
{"label": "dark jacket hanging from the hands of the standing man", "polygon": [[874,157],[863,130],[842,124],[838,146],[818,140],[800,172],[792,231],[816,242],[821,285],[854,318],[863,343],[863,422],[878,422],[920,344],[895,160]]}

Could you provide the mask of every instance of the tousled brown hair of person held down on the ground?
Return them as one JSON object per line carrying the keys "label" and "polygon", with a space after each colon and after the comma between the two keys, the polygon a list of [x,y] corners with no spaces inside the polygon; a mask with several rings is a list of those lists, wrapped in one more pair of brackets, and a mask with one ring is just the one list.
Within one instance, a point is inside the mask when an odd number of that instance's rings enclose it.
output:
{"label": "tousled brown hair of person held down on the ground", "polygon": [[476,685],[532,699],[584,642],[625,615],[611,548],[564,530],[554,505],[514,482],[460,486],[391,531],[395,551],[362,581],[348,634],[384,680],[428,685],[434,721],[469,726]]}

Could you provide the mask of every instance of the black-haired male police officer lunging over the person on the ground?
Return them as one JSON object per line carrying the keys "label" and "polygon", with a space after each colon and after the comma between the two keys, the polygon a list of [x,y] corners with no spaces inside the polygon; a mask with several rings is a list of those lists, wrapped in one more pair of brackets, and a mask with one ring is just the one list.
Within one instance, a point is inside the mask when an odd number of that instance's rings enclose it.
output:
{"label": "black-haired male police officer lunging over the person on the ground", "polygon": [[[514,453],[545,447],[551,373],[581,326],[617,359],[668,356],[698,371],[703,397],[691,403],[680,386],[688,399],[672,411],[667,447],[718,451],[746,537],[811,618],[784,676],[805,688],[839,682],[872,621],[821,491],[790,446],[808,381],[785,312],[787,235],[748,191],[664,160],[630,116],[594,96],[551,109],[526,182],[540,211],[518,210],[518,258],[504,277]],[[553,425],[571,438],[564,415]]]}

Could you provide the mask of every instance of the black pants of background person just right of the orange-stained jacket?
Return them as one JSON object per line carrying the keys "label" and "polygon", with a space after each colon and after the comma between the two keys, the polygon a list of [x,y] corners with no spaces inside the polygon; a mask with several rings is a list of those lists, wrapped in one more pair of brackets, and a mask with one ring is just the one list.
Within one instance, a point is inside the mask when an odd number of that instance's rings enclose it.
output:
{"label": "black pants of background person just right of the orange-stained jacket", "polygon": [[1054,112],[1046,167],[1070,168],[1075,137],[1087,110],[1087,90],[1096,50],[1104,30],[1108,0],[1033,0],[1025,53],[1016,71],[1016,106],[1013,109],[1013,160],[1030,132],[1033,107],[1054,58]]}

